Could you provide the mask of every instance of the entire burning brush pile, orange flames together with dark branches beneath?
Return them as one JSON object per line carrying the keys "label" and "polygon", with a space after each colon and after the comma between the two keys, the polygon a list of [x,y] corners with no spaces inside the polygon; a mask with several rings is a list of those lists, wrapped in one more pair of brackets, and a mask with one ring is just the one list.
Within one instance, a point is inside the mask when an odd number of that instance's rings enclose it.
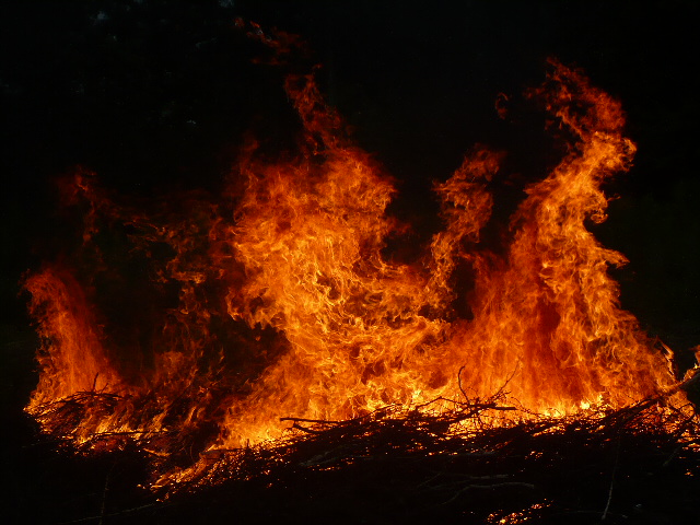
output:
{"label": "entire burning brush pile, orange flames together with dark branches beneath", "polygon": [[[301,154],[271,161],[252,141],[222,196],[147,212],[89,172],[65,184],[81,247],[25,283],[44,341],[26,410],[43,431],[149,465],[165,503],[143,512],[175,509],[168,523],[198,523],[202,499],[208,523],[663,523],[667,498],[672,518],[692,516],[695,411],[619,307],[607,268],[625,257],[586,228],[634,154],[620,105],[552,60],[528,96],[567,153],[525,188],[504,246],[479,244],[503,153],[476,147],[434,186],[443,230],[397,262],[390,179],[312,74],[285,89]],[[129,291],[149,306],[118,332],[107,313],[128,318],[114,303]]]}

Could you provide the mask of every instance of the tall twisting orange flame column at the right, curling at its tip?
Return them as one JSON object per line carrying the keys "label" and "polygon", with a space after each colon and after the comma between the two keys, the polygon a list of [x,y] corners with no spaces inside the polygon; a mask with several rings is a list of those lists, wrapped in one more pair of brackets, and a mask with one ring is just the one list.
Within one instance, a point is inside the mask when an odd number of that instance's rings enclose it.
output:
{"label": "tall twisting orange flame column at the right, curling at its tip", "polygon": [[635,150],[621,136],[620,104],[581,73],[552,66],[553,85],[539,94],[574,142],[547,178],[526,189],[508,259],[478,261],[475,319],[459,346],[471,349],[463,381],[481,395],[514,373],[515,398],[567,413],[599,400],[623,406],[669,377],[634,317],[619,307],[606,270],[625,257],[585,226],[605,220],[600,183],[627,170]]}

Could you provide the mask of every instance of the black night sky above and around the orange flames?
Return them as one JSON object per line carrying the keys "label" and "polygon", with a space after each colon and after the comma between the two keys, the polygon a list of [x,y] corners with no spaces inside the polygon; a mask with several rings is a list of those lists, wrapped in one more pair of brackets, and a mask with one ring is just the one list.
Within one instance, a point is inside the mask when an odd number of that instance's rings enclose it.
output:
{"label": "black night sky above and around the orange flames", "polygon": [[[289,147],[285,70],[250,63],[264,50],[233,28],[241,16],[308,43],[293,67],[324,65],[328,100],[398,179],[393,210],[415,223],[434,221],[431,180],[475,142],[511,152],[523,180],[540,176],[551,143],[518,95],[549,56],[583,68],[622,101],[639,145],[596,231],[631,259],[615,272],[623,305],[672,345],[698,343],[698,11],[680,0],[4,2],[3,330],[26,326],[22,272],[59,250],[57,175],[83,164],[136,195],[215,190],[246,130]],[[498,93],[521,101],[508,121]]]}

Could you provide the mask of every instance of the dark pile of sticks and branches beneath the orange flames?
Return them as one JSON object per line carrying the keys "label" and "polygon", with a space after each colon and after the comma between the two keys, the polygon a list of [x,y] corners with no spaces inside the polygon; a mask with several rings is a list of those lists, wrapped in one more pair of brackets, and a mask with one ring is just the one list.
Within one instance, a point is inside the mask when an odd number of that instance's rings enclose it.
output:
{"label": "dark pile of sticks and branches beneath the orange flames", "polygon": [[[62,430],[71,441],[66,424],[80,419],[84,404],[107,409],[103,397],[83,393],[38,419],[45,430],[54,420],[54,431]],[[138,509],[92,517],[130,524],[290,517],[348,524],[697,520],[700,424],[690,411],[648,399],[615,411],[537,417],[504,400],[502,395],[460,404],[438,399],[412,410],[389,406],[348,421],[288,418],[292,428],[284,439],[201,453],[199,463],[179,475],[159,482],[151,477],[156,487],[151,503],[140,500]],[[447,402],[452,408],[445,409]],[[513,410],[521,411],[520,422],[495,424]],[[60,429],[51,415],[62,421]],[[77,450],[95,454],[119,440],[120,462],[150,462],[158,477],[159,470],[182,465],[187,454],[196,459],[191,451],[202,433],[95,434],[72,441]],[[162,451],[168,454],[159,453],[155,448],[166,442]]]}

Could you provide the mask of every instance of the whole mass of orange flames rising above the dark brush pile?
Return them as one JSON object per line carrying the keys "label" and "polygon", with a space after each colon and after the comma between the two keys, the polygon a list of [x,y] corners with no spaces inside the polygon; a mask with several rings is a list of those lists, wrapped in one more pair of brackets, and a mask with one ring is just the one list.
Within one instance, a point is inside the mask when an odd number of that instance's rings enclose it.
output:
{"label": "whole mass of orange flames rising above the dark brush pile", "polygon": [[[313,75],[285,83],[300,155],[270,161],[252,142],[222,198],[179,197],[145,213],[79,172],[65,191],[88,205],[83,247],[68,258],[81,262],[47,265],[25,283],[44,339],[27,411],[48,424],[52,404],[108,396],[63,432],[159,434],[167,455],[168,435],[203,428],[200,452],[279,439],[290,416],[342,420],[495,393],[528,412],[568,415],[667,392],[664,358],[607,273],[626,259],[586,228],[605,220],[602,183],[634,154],[620,104],[580,71],[550,68],[530,96],[569,150],[526,188],[502,256],[479,247],[503,158],[486,147],[435,184],[444,229],[423,257],[387,256],[387,237],[405,228],[386,213],[394,184],[343,137]],[[166,298],[148,314],[148,337],[114,340],[96,307],[116,271],[103,230],[120,235],[124,257],[145,261],[152,295]],[[454,288],[465,265],[475,275],[468,319],[451,306],[465,300]]]}

